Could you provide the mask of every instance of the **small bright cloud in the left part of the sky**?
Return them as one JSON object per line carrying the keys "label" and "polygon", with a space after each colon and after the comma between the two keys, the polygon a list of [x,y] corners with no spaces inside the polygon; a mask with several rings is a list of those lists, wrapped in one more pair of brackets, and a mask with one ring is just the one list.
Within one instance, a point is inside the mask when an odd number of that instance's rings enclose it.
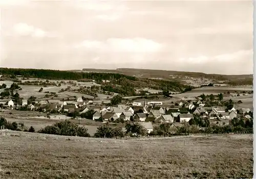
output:
{"label": "small bright cloud in the left part of the sky", "polygon": [[42,37],[54,37],[55,35],[52,33],[45,32],[39,28],[35,28],[32,25],[28,25],[27,23],[17,23],[13,27],[13,32],[19,36],[32,36],[37,38]]}

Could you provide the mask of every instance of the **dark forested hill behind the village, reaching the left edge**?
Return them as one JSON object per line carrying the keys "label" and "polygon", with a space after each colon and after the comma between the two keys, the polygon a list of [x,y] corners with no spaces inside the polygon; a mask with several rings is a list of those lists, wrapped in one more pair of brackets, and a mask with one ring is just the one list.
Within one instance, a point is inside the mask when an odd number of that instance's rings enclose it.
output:
{"label": "dark forested hill behind the village, reaching the left edge", "polygon": [[[16,78],[23,76],[24,78],[39,78],[46,80],[95,80],[96,83],[103,85],[105,88],[115,88],[116,85],[122,86],[122,90],[131,90],[134,88],[152,88],[157,90],[168,90],[175,92],[189,91],[195,87],[183,85],[178,81],[141,79],[135,76],[129,76],[119,73],[103,73],[103,72],[74,72],[47,69],[22,69],[22,68],[0,68],[0,74],[4,78]],[[4,79],[2,76],[2,80]],[[109,80],[108,84],[102,80]],[[114,85],[112,85],[114,84]],[[125,87],[125,88],[124,88]]]}

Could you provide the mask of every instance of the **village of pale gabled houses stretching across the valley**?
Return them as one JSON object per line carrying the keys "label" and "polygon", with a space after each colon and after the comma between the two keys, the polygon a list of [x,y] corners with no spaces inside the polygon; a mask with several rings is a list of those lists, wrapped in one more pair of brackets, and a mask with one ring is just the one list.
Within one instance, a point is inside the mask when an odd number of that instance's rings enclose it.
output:
{"label": "village of pale gabled houses stretching across the valley", "polygon": [[[161,101],[146,102],[146,99],[144,103],[133,102],[115,106],[97,104],[93,100],[83,100],[82,97],[71,101],[22,99],[17,103],[10,99],[6,102],[2,101],[0,108],[4,111],[39,111],[46,114],[49,119],[53,115],[56,118],[56,114],[62,114],[62,116],[66,116],[66,119],[73,118],[79,119],[79,121],[91,119],[102,123],[139,122],[148,133],[153,131],[155,125],[171,123],[172,127],[177,129],[177,127],[191,124],[191,119],[196,117],[205,121],[205,127],[229,124],[230,120],[237,117],[252,118],[252,115],[249,115],[252,114],[252,110],[249,108],[205,107],[200,99],[189,102],[178,100],[171,106],[163,105]],[[63,119],[63,117],[58,117],[58,119]]]}

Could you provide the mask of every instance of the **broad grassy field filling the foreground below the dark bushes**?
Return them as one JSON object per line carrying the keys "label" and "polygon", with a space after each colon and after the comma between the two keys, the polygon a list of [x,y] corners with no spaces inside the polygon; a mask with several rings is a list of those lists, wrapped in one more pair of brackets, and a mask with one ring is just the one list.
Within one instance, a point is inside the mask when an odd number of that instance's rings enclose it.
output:
{"label": "broad grassy field filling the foreground below the dark bushes", "polygon": [[[114,140],[0,135],[3,178],[252,178],[252,135]],[[0,178],[1,178],[0,177]]]}

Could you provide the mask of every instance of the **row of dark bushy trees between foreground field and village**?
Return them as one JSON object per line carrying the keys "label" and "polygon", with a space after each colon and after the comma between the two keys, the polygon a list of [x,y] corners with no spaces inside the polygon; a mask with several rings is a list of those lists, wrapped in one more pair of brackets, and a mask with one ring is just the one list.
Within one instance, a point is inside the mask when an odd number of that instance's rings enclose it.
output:
{"label": "row of dark bushy trees between foreground field and village", "polygon": [[[26,129],[23,123],[17,124],[16,122],[10,123],[6,119],[0,119],[0,126],[5,126],[6,129],[17,130],[17,131],[29,131],[34,132],[31,126],[29,130]],[[84,126],[78,126],[77,124],[65,120],[57,122],[53,125],[46,126],[44,129],[39,130],[37,133],[42,134],[54,134],[62,136],[80,136],[80,137],[91,137],[88,133],[88,129]],[[181,127],[172,127],[172,123],[162,123],[159,126],[155,126],[153,132],[147,133],[147,130],[137,122],[127,123],[125,125],[125,132],[122,127],[112,127],[108,124],[101,125],[97,128],[97,131],[93,137],[97,138],[123,138],[124,136],[140,137],[140,136],[172,136],[172,135],[189,135],[197,133],[206,134],[224,134],[224,133],[243,133],[252,134],[252,121],[248,125],[242,126],[239,121],[232,121],[229,125],[213,125],[200,128],[198,125],[184,125]]]}

